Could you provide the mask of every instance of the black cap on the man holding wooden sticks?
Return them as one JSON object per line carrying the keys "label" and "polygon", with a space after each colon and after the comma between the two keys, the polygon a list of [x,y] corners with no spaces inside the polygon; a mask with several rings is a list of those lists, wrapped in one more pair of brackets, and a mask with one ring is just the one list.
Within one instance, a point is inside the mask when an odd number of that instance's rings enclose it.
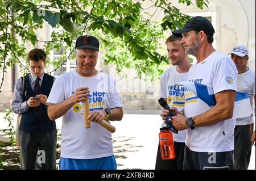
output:
{"label": "black cap on the man holding wooden sticks", "polygon": [[100,42],[94,36],[84,35],[84,36],[79,36],[76,39],[76,49],[90,48],[98,51],[99,47],[100,47]]}

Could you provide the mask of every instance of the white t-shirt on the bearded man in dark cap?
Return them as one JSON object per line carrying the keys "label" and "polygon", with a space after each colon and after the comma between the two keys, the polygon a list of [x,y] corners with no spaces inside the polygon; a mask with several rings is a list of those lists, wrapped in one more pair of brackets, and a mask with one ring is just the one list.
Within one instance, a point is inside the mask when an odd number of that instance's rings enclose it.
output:
{"label": "white t-shirt on the bearded man in dark cap", "polygon": [[[213,87],[213,92],[237,90],[237,68],[226,54],[213,52],[189,69],[188,81]],[[210,107],[195,94],[185,92],[185,117],[200,115]],[[188,129],[185,144],[192,151],[221,152],[234,149],[235,119],[220,121],[207,127]]]}

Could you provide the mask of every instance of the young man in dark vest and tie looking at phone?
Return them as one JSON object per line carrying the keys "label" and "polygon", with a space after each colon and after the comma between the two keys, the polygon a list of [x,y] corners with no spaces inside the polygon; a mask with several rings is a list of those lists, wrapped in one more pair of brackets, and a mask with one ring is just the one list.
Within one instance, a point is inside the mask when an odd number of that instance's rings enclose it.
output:
{"label": "young man in dark vest and tie looking at phone", "polygon": [[[47,97],[55,80],[44,73],[46,53],[32,49],[27,56],[31,73],[19,78],[11,103],[15,113],[21,113],[20,162],[23,170],[35,169],[35,161],[42,163],[42,169],[56,169],[57,130],[55,121],[47,115]],[[23,91],[22,91],[23,90]],[[39,150],[39,157],[36,158]]]}

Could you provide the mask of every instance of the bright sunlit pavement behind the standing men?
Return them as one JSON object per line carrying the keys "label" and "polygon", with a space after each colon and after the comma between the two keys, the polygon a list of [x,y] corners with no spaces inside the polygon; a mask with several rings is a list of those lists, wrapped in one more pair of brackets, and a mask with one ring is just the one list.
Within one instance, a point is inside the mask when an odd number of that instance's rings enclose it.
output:
{"label": "bright sunlit pavement behind the standing men", "polygon": [[[158,133],[162,124],[160,112],[125,110],[122,121],[112,122],[116,128],[112,137],[117,169],[155,169]],[[2,119],[4,115],[5,113],[0,113],[0,140],[8,141],[8,137],[2,133],[2,129],[7,128],[7,123]],[[56,120],[56,125],[61,129],[61,119]],[[249,169],[255,170],[255,146],[251,151]]]}

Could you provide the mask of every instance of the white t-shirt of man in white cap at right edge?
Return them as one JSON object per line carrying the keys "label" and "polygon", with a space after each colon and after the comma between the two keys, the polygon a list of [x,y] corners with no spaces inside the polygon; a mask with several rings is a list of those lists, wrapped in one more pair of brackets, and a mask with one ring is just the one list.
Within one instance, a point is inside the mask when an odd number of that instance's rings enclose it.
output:
{"label": "white t-shirt of man in white cap at right edge", "polygon": [[[255,71],[247,70],[243,73],[238,73],[237,75],[237,91],[238,92],[246,92],[253,93],[255,95]],[[254,107],[254,96],[250,96],[251,108],[253,110]],[[239,108],[242,111],[243,108]],[[254,112],[254,111],[253,111]],[[253,115],[249,117],[240,117],[236,119],[236,125],[249,125],[254,122]]]}

